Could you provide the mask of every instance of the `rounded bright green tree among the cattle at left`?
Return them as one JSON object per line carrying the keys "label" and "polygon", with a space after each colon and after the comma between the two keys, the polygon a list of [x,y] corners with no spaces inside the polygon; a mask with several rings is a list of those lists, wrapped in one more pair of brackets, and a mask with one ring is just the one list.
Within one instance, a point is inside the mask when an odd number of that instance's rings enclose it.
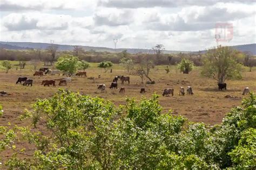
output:
{"label": "rounded bright green tree among the cattle at left", "polygon": [[60,56],[56,63],[56,68],[73,74],[81,66],[81,63],[77,56],[73,55],[63,55]]}

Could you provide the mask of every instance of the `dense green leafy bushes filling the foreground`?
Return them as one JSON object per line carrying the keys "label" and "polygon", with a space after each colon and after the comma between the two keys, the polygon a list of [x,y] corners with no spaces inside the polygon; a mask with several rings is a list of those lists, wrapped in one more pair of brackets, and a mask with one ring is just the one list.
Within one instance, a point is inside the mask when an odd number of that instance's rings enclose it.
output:
{"label": "dense green leafy bushes filling the foreground", "polygon": [[21,169],[256,166],[253,94],[213,127],[161,110],[157,95],[138,104],[127,99],[116,107],[99,97],[60,90],[21,117],[31,120],[31,126],[0,127],[0,152],[13,150],[5,166]]}

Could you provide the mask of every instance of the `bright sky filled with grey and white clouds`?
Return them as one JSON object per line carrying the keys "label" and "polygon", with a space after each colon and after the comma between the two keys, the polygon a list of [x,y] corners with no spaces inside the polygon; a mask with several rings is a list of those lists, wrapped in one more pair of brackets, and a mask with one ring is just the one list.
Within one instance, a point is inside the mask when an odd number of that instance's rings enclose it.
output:
{"label": "bright sky filled with grey and white clouds", "polygon": [[1,0],[0,22],[0,41],[197,51],[255,43],[256,1]]}

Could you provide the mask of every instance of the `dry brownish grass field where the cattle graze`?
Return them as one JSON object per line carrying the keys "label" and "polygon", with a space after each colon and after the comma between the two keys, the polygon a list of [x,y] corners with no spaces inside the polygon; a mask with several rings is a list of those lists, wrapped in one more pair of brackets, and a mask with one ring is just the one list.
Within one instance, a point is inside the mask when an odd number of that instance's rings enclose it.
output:
{"label": "dry brownish grass field where the cattle graze", "polygon": [[[112,73],[104,73],[103,69],[97,68],[97,63],[91,63],[89,69],[86,70],[87,77],[72,77],[72,83],[68,86],[44,87],[41,85],[42,80],[59,79],[62,75],[43,77],[33,76],[33,66],[28,65],[23,70],[13,68],[9,73],[5,70],[0,70],[0,91],[6,91],[11,95],[0,96],[0,103],[4,108],[4,115],[0,117],[0,125],[7,125],[9,122],[12,125],[27,125],[28,122],[19,121],[19,116],[24,112],[24,109],[29,109],[37,98],[51,97],[58,91],[58,88],[69,89],[71,91],[79,91],[84,95],[99,96],[106,100],[110,100],[116,105],[125,104],[126,97],[134,97],[139,100],[142,97],[151,97],[153,93],[160,95],[159,101],[163,106],[163,112],[172,110],[173,115],[183,115],[190,121],[204,122],[206,124],[220,123],[232,107],[241,104],[242,90],[245,87],[250,87],[251,91],[256,91],[256,69],[253,72],[243,72],[242,80],[227,81],[227,90],[218,91],[218,86],[215,80],[207,79],[200,76],[200,67],[194,68],[190,74],[181,74],[176,67],[171,67],[171,72],[166,74],[164,68],[166,66],[157,66],[151,70],[151,77],[156,84],[142,84],[140,77],[137,75],[127,74],[126,71],[119,65],[113,66]],[[39,66],[38,66],[39,68]],[[50,67],[51,68],[51,67]],[[101,78],[98,79],[98,74]],[[129,75],[131,83],[127,82],[122,85],[118,81],[118,89],[110,89],[109,86],[116,75]],[[32,87],[25,87],[21,84],[16,84],[18,77],[27,76],[33,79]],[[87,79],[88,77],[96,77],[95,82]],[[146,81],[146,80],[145,80]],[[106,90],[100,91],[97,89],[97,84],[105,83]],[[170,84],[170,85],[167,85]],[[125,93],[119,94],[119,88],[124,86]],[[194,95],[179,96],[179,87],[191,86]],[[140,94],[140,88],[146,89],[145,94]],[[163,97],[163,89],[173,88],[174,96]],[[224,98],[225,95],[236,96],[235,99]]]}

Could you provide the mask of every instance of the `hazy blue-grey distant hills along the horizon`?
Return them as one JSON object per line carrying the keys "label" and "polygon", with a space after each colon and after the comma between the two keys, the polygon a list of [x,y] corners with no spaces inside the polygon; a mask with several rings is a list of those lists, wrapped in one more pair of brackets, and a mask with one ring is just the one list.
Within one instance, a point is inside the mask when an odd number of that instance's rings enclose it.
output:
{"label": "hazy blue-grey distant hills along the horizon", "polygon": [[[50,43],[41,43],[41,42],[3,42],[0,41],[0,48],[5,48],[5,49],[46,49],[49,47]],[[59,45],[59,44],[54,44],[58,46],[58,50],[60,51],[72,51],[73,46],[72,45]],[[82,47],[85,51],[97,51],[97,52],[122,52],[124,50],[127,50],[127,52],[131,54],[136,54],[136,53],[154,53],[152,49],[142,49],[142,48],[107,48],[107,47],[91,47],[91,46],[79,46]],[[241,52],[251,52],[253,55],[256,55],[256,44],[245,44],[245,45],[236,45],[236,46],[231,46],[234,49],[237,49]],[[191,53],[188,51],[169,51],[169,50],[164,50],[163,53]],[[206,51],[201,51],[205,53]],[[197,52],[192,52],[192,53],[197,53]]]}

